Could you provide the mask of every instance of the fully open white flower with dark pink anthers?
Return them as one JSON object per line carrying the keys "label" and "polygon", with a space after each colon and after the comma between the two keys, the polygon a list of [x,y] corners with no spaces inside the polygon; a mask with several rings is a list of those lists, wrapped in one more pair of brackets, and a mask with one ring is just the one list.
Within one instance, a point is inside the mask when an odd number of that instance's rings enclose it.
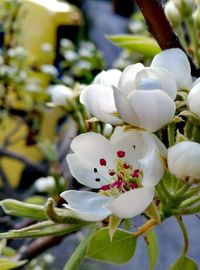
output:
{"label": "fully open white flower with dark pink anthers", "polygon": [[82,184],[100,189],[65,191],[61,197],[79,218],[102,220],[112,213],[130,218],[145,211],[154,197],[155,185],[164,168],[166,149],[158,138],[145,131],[117,127],[108,140],[98,133],[85,133],[71,144],[67,156],[72,175]]}

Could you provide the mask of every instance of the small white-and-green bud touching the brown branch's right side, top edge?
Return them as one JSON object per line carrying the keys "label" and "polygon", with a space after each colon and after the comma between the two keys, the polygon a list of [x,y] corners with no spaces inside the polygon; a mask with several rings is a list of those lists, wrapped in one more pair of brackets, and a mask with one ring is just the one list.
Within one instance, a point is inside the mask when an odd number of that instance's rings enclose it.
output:
{"label": "small white-and-green bud touching the brown branch's right side, top edge", "polygon": [[177,27],[180,24],[181,15],[174,2],[169,1],[166,3],[165,15],[167,16],[167,19],[170,21],[173,27]]}

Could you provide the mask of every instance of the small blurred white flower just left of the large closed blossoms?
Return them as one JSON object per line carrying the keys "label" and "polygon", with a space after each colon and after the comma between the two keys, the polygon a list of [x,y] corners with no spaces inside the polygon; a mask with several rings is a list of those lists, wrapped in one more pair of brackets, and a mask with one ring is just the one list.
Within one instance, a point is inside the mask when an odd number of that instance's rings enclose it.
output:
{"label": "small blurred white flower just left of the large closed blossoms", "polygon": [[62,84],[49,86],[47,88],[47,93],[51,96],[54,105],[67,106],[68,100],[73,97],[72,89]]}

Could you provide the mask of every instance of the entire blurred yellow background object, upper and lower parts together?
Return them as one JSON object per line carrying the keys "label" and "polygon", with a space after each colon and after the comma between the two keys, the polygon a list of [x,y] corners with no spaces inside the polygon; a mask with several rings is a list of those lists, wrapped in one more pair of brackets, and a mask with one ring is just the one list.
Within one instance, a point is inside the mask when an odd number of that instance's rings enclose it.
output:
{"label": "entire blurred yellow background object, upper and lower parts together", "polygon": [[[2,1],[2,0],[0,0]],[[83,18],[80,10],[65,1],[58,0],[22,0],[20,8],[20,35],[19,45],[28,51],[25,65],[39,67],[44,63],[43,44],[50,44],[53,50],[53,57],[49,63],[53,64],[59,58],[59,43],[62,38],[76,42],[80,27],[83,25]],[[37,70],[37,68],[36,68]],[[38,78],[41,81],[41,88],[45,90],[49,79],[46,74],[32,70],[30,77]],[[32,94],[33,95],[33,94]],[[14,110],[26,112],[34,109],[34,104],[18,99],[15,92],[9,90],[9,102]],[[31,94],[30,94],[31,99]],[[42,102],[42,100],[41,100]],[[36,108],[37,110],[37,108]],[[41,114],[39,134],[41,140],[56,138],[56,127],[58,119],[63,115],[59,109],[47,109]],[[37,145],[28,145],[27,136],[29,127],[18,116],[5,116],[0,123],[0,147],[3,147],[5,140],[10,137],[11,143],[6,150],[24,156],[33,162],[40,162],[43,155]],[[21,174],[25,168],[24,164],[17,159],[1,157],[1,166],[9,179],[12,187],[18,187]],[[28,181],[28,179],[27,179]]]}

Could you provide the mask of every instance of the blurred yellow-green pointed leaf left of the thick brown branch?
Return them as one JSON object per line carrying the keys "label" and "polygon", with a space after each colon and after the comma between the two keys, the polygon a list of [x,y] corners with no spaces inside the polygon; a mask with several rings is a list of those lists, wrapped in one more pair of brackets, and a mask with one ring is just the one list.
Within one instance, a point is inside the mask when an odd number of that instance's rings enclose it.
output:
{"label": "blurred yellow-green pointed leaf left of the thick brown branch", "polygon": [[116,46],[153,57],[161,51],[155,39],[136,35],[112,35],[107,38]]}

